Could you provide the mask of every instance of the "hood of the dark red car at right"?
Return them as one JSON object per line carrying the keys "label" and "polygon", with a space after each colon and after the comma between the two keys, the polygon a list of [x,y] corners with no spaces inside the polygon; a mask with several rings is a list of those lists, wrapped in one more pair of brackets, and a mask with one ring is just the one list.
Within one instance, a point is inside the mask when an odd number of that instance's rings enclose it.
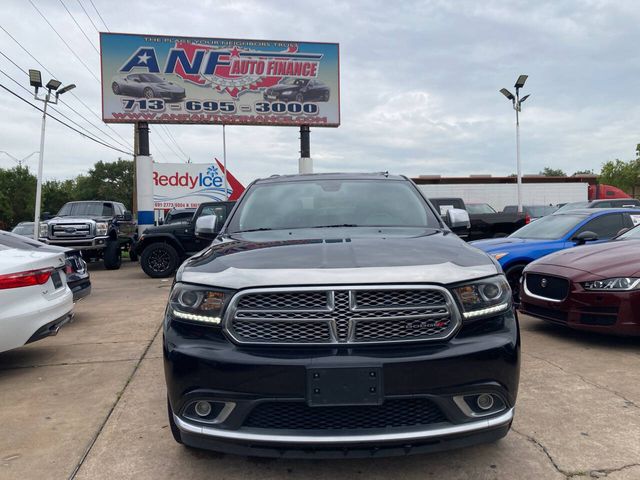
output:
{"label": "hood of the dark red car at right", "polygon": [[640,240],[569,248],[542,257],[536,264],[573,268],[601,278],[636,276],[640,273]]}

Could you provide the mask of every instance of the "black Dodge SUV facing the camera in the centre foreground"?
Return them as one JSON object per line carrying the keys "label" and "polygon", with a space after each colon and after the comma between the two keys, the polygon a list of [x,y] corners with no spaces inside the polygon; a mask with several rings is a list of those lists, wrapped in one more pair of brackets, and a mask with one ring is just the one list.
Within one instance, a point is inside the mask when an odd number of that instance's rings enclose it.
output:
{"label": "black Dodge SUV facing the camera in the centre foreground", "polygon": [[[514,415],[518,323],[500,267],[406,177],[251,184],[178,269],[164,318],[171,431],[257,456],[489,442]],[[196,233],[214,236],[215,217]]]}

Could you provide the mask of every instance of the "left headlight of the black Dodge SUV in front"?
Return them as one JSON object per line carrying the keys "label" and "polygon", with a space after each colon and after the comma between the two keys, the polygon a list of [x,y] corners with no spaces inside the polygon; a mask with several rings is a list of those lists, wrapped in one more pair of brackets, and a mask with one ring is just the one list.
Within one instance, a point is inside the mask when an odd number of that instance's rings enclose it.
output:
{"label": "left headlight of the black Dodge SUV in front", "polygon": [[169,297],[169,307],[177,319],[220,325],[224,301],[224,292],[176,283]]}

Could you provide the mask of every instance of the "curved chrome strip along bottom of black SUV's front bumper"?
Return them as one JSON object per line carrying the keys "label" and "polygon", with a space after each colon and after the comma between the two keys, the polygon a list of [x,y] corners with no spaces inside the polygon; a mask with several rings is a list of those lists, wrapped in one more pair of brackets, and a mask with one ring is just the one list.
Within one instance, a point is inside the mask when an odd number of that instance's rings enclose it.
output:
{"label": "curved chrome strip along bottom of black SUV's front bumper", "polygon": [[493,427],[503,426],[513,420],[514,410],[509,409],[502,415],[485,420],[478,420],[460,425],[447,425],[445,427],[432,428],[427,430],[398,432],[398,433],[376,433],[371,435],[278,435],[267,433],[252,433],[241,430],[223,430],[219,428],[201,427],[185,422],[177,415],[173,419],[180,430],[185,433],[204,435],[227,440],[242,440],[247,442],[268,442],[268,443],[299,443],[306,445],[330,445],[344,443],[373,443],[425,440],[448,435],[475,432]]}

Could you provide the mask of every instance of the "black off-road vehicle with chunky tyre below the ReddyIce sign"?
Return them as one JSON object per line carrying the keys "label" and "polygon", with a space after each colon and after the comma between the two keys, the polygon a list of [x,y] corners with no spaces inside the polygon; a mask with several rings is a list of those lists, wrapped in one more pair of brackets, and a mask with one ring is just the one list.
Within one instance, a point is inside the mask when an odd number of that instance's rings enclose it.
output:
{"label": "black off-road vehicle with chunky tyre below the ReddyIce sign", "polygon": [[190,220],[147,228],[138,239],[134,253],[140,257],[144,273],[152,278],[169,277],[180,263],[205,248],[210,240],[196,237],[196,220],[215,215],[222,227],[235,202],[206,202],[201,204]]}

